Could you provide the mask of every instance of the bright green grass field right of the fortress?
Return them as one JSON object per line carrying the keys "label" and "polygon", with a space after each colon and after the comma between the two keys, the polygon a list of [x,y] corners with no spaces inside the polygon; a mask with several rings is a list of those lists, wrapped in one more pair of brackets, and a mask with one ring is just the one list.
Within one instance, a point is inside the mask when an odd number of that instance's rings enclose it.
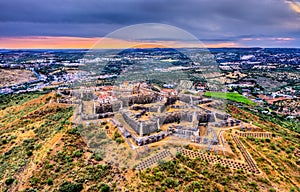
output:
{"label": "bright green grass field right of the fortress", "polygon": [[244,103],[247,105],[255,105],[253,101],[250,99],[240,95],[239,93],[233,93],[233,92],[205,92],[205,96],[217,98],[217,99],[227,99],[230,101],[235,101],[238,103]]}

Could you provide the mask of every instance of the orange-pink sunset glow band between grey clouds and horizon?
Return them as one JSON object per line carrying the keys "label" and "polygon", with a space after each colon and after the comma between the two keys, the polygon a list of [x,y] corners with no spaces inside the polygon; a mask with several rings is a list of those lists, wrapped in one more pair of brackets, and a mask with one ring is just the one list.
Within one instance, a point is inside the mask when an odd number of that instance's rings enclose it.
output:
{"label": "orange-pink sunset glow band between grey clouds and horizon", "polygon": [[[96,46],[95,46],[96,45]],[[126,41],[112,38],[83,38],[83,37],[2,37],[0,38],[0,48],[4,49],[121,49],[128,47],[154,48],[154,47],[236,47],[234,42],[187,44],[180,41],[156,41],[138,42]]]}

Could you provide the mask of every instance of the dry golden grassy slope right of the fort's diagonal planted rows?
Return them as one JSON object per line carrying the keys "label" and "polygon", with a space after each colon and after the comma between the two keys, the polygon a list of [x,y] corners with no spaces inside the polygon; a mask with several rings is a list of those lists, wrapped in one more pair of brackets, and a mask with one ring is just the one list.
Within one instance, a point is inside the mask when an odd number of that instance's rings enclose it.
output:
{"label": "dry golden grassy slope right of the fort's diagonal planted rows", "polygon": [[300,135],[243,109],[229,106],[229,111],[233,117],[245,122],[254,122],[258,127],[278,136],[272,141],[251,137],[242,139],[242,141],[256,160],[257,165],[274,185],[276,183],[282,183],[282,185],[294,183],[299,186],[300,160],[296,154],[300,149]]}

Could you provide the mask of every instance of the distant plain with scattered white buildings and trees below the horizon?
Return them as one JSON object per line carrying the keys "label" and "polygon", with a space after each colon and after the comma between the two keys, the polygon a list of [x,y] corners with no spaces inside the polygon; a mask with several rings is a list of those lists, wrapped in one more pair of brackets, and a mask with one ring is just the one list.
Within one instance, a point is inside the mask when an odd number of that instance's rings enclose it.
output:
{"label": "distant plain with scattered white buildings and trees below the horizon", "polygon": [[[196,49],[149,50],[120,50],[114,51],[114,54],[108,51],[101,58],[86,57],[88,50],[1,50],[0,69],[3,75],[0,94],[68,89],[82,79],[85,69],[81,66],[93,62],[106,65],[101,73],[92,77],[104,82],[118,77],[124,66],[141,60],[151,63],[153,58],[155,62],[171,63],[172,66],[168,65],[166,70],[185,70],[196,74],[190,78],[194,93],[207,91],[205,81],[212,77],[199,78],[199,72],[191,66],[191,62],[195,61],[186,56],[196,57]],[[299,49],[219,48],[209,52],[217,62],[219,79],[226,86],[226,91],[237,92],[259,106],[268,106],[277,114],[299,120]],[[118,53],[117,57],[115,53]],[[164,87],[171,88],[172,85],[165,84]]]}

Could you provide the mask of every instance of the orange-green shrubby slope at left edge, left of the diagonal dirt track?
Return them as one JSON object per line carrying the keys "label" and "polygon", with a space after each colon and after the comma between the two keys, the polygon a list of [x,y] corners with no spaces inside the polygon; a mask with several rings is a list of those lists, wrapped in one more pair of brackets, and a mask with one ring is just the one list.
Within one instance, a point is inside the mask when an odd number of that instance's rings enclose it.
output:
{"label": "orange-green shrubby slope at left edge, left of the diagonal dirt track", "polygon": [[71,125],[72,107],[50,104],[54,97],[53,93],[23,94],[18,95],[18,99],[10,97],[3,104],[5,109],[0,111],[1,188],[22,182],[24,171],[42,160],[44,148]]}

